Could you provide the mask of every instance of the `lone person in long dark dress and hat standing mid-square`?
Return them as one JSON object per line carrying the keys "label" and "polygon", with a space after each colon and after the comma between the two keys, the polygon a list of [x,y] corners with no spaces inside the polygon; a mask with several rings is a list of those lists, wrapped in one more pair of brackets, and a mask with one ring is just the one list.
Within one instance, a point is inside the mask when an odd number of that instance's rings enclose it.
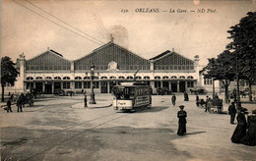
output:
{"label": "lone person in long dark dress and hat standing mid-square", "polygon": [[178,117],[178,132],[177,132],[177,134],[184,135],[184,134],[186,134],[187,112],[183,110],[184,109],[183,105],[180,105],[179,108],[180,108],[180,111],[178,111],[178,113],[177,113],[177,117]]}

